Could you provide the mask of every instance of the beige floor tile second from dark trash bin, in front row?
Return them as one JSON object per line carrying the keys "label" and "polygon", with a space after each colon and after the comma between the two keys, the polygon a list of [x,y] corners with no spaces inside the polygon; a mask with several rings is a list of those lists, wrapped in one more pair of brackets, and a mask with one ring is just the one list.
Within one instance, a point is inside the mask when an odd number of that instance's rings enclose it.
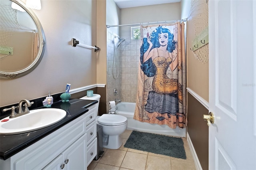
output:
{"label": "beige floor tile second from dark trash bin, in front row", "polygon": [[146,166],[147,155],[134,152],[126,152],[122,168],[128,168],[132,170],[144,170]]}

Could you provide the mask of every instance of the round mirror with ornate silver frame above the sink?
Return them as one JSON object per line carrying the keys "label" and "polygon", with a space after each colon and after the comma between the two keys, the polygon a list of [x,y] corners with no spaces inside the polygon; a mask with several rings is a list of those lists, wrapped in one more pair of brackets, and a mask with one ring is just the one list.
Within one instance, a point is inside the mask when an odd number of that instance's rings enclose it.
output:
{"label": "round mirror with ornate silver frame above the sink", "polygon": [[[0,79],[14,79],[33,71],[42,60],[46,44],[40,21],[36,14],[26,7],[24,2],[21,0],[0,0],[0,5],[11,6],[12,2],[23,8],[25,12],[16,11],[20,28],[12,32],[6,45],[0,45],[0,55],[4,56],[0,59]],[[8,16],[8,14],[3,15]],[[6,20],[0,20],[0,24],[3,24],[2,22],[6,22]],[[8,29],[5,28],[4,31],[8,32]],[[1,49],[10,49],[11,52],[7,51],[7,53]]]}

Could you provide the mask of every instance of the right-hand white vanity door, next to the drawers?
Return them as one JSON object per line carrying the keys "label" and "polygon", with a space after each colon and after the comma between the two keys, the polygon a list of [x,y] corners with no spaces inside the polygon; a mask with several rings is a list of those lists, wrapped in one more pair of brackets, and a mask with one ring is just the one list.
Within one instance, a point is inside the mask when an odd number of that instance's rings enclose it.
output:
{"label": "right-hand white vanity door, next to the drawers", "polygon": [[67,170],[86,170],[86,134],[70,145],[63,154],[63,162]]}

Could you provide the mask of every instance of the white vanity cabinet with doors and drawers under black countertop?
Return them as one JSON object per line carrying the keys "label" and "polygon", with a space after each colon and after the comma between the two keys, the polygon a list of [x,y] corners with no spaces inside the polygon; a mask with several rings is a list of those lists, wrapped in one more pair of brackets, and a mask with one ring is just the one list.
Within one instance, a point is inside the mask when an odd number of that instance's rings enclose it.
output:
{"label": "white vanity cabinet with doors and drawers under black countertop", "polygon": [[[86,170],[97,152],[95,105],[89,111],[6,160],[1,170]],[[88,148],[89,147],[89,148]]]}

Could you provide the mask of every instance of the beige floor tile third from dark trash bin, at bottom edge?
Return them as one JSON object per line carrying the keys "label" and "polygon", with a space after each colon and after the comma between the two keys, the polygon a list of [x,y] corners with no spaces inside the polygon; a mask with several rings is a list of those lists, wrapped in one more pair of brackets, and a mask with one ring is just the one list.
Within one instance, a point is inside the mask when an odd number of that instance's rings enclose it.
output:
{"label": "beige floor tile third from dark trash bin, at bottom edge", "polygon": [[170,158],[161,158],[157,156],[148,155],[145,170],[170,170],[171,160]]}

